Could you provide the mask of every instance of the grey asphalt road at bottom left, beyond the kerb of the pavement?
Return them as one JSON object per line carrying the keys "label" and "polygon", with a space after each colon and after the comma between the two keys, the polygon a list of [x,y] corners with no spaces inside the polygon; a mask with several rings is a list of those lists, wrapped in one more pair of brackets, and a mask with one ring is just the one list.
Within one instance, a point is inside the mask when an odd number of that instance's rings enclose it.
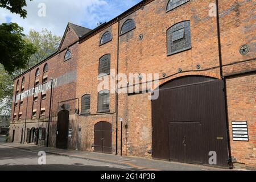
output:
{"label": "grey asphalt road at bottom left, beyond the kerb of the pavement", "polygon": [[36,152],[0,145],[0,171],[122,171],[127,166],[46,154],[46,165],[39,165]]}

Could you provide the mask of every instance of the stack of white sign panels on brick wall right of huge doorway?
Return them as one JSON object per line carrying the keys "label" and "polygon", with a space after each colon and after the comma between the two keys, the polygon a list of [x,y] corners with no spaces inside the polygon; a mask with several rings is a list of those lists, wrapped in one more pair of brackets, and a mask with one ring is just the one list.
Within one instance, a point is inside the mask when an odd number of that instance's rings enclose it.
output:
{"label": "stack of white sign panels on brick wall right of huge doorway", "polygon": [[249,142],[247,121],[232,122],[233,141]]}

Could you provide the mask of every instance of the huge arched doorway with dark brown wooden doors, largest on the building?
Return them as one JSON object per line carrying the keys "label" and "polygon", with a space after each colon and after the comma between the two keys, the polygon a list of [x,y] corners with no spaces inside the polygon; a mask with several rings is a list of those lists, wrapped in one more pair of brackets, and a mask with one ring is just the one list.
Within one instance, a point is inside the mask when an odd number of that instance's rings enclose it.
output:
{"label": "huge arched doorway with dark brown wooden doors, largest on the building", "polygon": [[152,156],[176,162],[228,166],[223,82],[203,76],[177,78],[152,100]]}

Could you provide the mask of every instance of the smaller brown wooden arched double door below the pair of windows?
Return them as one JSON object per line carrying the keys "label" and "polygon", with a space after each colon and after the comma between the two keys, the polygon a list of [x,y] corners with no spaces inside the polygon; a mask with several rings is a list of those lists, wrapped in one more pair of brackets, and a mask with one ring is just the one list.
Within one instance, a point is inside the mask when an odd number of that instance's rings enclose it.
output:
{"label": "smaller brown wooden arched double door below the pair of windows", "polygon": [[98,122],[94,126],[94,152],[112,154],[112,125]]}

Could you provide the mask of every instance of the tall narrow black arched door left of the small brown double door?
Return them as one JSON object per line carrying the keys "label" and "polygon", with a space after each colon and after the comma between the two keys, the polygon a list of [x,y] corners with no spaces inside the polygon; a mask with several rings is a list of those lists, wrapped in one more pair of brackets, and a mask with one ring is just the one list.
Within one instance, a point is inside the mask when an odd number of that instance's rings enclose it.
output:
{"label": "tall narrow black arched door left of the small brown double door", "polygon": [[68,124],[69,111],[61,110],[58,114],[56,147],[61,149],[68,148]]}

